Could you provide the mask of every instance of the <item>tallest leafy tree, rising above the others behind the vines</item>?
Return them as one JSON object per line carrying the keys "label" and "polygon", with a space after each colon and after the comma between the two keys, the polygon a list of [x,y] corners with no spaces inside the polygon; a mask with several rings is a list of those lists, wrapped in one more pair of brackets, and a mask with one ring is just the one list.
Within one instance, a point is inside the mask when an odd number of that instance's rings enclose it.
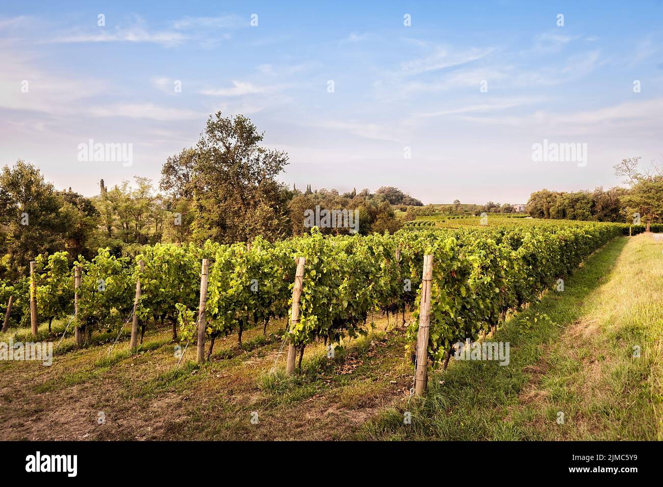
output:
{"label": "tallest leafy tree, rising above the others behind the vines", "polygon": [[169,158],[161,188],[193,203],[193,238],[247,241],[288,235],[290,191],[276,180],[285,152],[261,146],[263,133],[247,117],[211,115],[195,148]]}

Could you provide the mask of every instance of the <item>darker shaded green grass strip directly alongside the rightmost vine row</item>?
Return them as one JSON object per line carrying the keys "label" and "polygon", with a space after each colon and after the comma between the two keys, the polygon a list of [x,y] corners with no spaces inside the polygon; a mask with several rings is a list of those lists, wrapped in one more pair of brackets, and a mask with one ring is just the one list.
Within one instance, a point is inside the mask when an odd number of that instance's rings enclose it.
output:
{"label": "darker shaded green grass strip directly alongside the rightmost vine row", "polygon": [[[619,238],[591,256],[565,283],[563,293],[549,293],[540,303],[516,314],[493,341],[509,342],[508,366],[496,361],[455,361],[430,378],[430,390],[402,410],[390,409],[370,421],[360,434],[368,439],[523,440],[542,439],[528,427],[533,411],[519,407],[519,394],[532,377],[544,373],[540,360],[564,329],[587,313],[591,299],[609,279],[628,239]],[[404,421],[410,413],[411,423]],[[556,416],[550,417],[557,425]]]}

